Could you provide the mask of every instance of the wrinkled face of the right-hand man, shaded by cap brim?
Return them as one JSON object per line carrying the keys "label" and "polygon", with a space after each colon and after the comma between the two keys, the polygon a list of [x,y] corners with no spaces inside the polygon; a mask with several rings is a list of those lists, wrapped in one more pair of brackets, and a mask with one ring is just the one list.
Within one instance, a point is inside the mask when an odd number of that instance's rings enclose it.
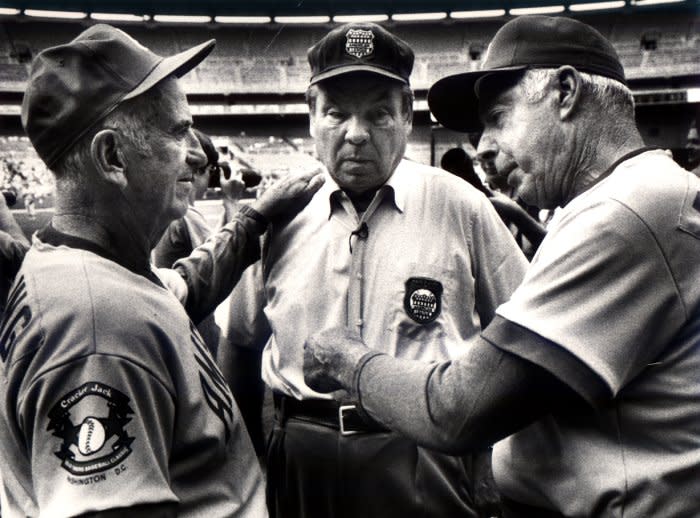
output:
{"label": "wrinkled face of the right-hand man, shaded by cap brim", "polygon": [[543,99],[531,102],[516,84],[479,99],[484,132],[477,153],[495,146],[508,183],[525,203],[542,209],[563,203],[569,169],[556,98],[556,90],[549,89]]}

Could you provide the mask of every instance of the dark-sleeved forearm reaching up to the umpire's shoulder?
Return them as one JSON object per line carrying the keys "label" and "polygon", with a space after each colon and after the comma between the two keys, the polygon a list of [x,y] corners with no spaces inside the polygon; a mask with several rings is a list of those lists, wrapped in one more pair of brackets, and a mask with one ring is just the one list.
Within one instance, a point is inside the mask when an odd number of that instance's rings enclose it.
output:
{"label": "dark-sleeved forearm reaching up to the umpire's shoulder", "polygon": [[185,309],[198,323],[231,293],[243,271],[260,258],[265,226],[243,213],[173,268],[187,283]]}

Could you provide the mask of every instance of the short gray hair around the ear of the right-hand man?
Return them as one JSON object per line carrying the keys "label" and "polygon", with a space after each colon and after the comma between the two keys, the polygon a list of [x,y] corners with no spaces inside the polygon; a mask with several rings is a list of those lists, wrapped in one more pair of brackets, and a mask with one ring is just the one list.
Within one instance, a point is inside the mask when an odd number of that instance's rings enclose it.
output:
{"label": "short gray hair around the ear of the right-hand man", "polygon": [[[634,98],[632,92],[624,84],[609,77],[589,74],[579,71],[583,92],[596,102],[603,113],[622,113],[634,117]],[[520,80],[529,102],[541,101],[546,92],[546,86],[554,80],[556,69],[531,68],[525,71]]]}

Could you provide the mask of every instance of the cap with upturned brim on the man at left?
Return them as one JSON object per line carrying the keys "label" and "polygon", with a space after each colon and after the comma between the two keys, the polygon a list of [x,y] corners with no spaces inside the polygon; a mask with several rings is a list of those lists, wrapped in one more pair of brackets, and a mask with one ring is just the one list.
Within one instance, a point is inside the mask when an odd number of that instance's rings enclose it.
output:
{"label": "cap with upturned brim on the man at left", "polygon": [[170,75],[189,72],[214,45],[209,40],[163,57],[119,29],[93,25],[34,59],[22,99],[22,126],[51,167],[120,103]]}

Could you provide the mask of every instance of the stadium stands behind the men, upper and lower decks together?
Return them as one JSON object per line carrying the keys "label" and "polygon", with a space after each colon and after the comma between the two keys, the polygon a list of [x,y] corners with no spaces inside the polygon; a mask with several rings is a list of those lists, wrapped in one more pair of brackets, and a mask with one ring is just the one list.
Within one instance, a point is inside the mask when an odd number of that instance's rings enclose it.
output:
{"label": "stadium stands behind the men, upper and lower decks together", "polygon": [[[612,41],[625,65],[627,77],[643,82],[643,87],[639,88],[643,92],[669,88],[669,84],[675,88],[678,78],[685,78],[686,86],[700,87],[700,19],[697,16],[657,11],[634,15],[629,12],[586,15],[581,19],[598,28]],[[418,92],[417,99],[424,99],[426,90],[437,79],[455,72],[477,69],[488,41],[505,21],[506,18],[497,18],[390,24],[391,30],[404,38],[416,53],[411,81]],[[0,113],[18,119],[21,93],[32,57],[47,46],[72,39],[88,23],[91,22],[0,18],[0,105],[5,105]],[[144,45],[165,55],[216,38],[217,47],[212,55],[183,79],[193,102],[193,112],[196,117],[258,116],[264,121],[261,125],[269,128],[268,134],[274,135],[272,140],[230,135],[221,138],[227,138],[232,146],[238,146],[250,162],[262,171],[283,174],[313,160],[313,143],[309,138],[303,139],[298,146],[290,144],[289,140],[279,140],[278,137],[284,137],[284,131],[276,128],[274,117],[294,115],[300,117],[300,126],[306,125],[305,119],[301,118],[304,115],[303,93],[309,75],[306,50],[329,27],[330,24],[192,26],[147,22],[129,24],[124,28]],[[634,91],[634,83],[632,88]],[[672,92],[666,101],[663,101],[663,95],[651,95],[645,99],[651,99],[652,104],[673,102],[677,106],[686,102],[684,94],[678,92]],[[424,101],[417,106],[425,112]],[[674,120],[663,124],[674,124],[676,127],[672,132],[669,128],[666,133],[685,135],[691,115],[674,113]],[[423,127],[414,129],[407,154],[415,160],[428,162],[431,158],[430,122],[427,116],[422,120]],[[304,133],[305,129],[301,128],[300,132]],[[654,127],[647,134],[663,137],[664,130]],[[659,142],[654,143],[682,147],[680,142],[669,143],[661,137]],[[10,141],[2,138],[0,151],[5,161],[28,168],[25,173],[28,177],[37,175],[40,162],[26,139]],[[280,155],[284,155],[284,160],[280,160]],[[43,173],[38,176],[37,182],[50,182],[49,176]],[[0,178],[0,181],[7,179]]]}

